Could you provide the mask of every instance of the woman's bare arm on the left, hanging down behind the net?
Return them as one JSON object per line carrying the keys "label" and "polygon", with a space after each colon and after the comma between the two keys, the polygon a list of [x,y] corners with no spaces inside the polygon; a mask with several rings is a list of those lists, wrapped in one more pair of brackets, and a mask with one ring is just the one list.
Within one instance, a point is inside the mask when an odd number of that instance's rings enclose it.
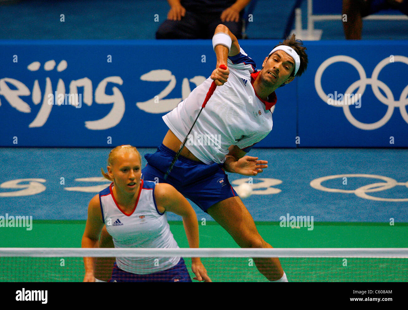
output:
{"label": "woman's bare arm on the left, hanging down behind the net", "polygon": [[[103,227],[102,213],[99,202],[99,195],[95,195],[88,206],[88,218],[84,235],[82,236],[82,248],[97,248],[99,235]],[[84,257],[85,277],[84,282],[94,282],[94,262],[93,257]]]}

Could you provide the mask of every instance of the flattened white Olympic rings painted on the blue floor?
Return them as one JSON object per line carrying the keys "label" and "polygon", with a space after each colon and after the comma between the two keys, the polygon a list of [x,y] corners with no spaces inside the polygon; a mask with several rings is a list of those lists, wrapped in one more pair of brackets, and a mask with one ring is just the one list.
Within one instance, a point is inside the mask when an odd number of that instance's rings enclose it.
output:
{"label": "flattened white Olympic rings painted on the blue floor", "polygon": [[[333,180],[337,178],[373,178],[373,179],[380,179],[385,182],[376,182],[368,185],[361,186],[357,189],[337,189],[337,188],[329,188],[324,187],[322,182],[327,180]],[[322,178],[317,178],[310,182],[310,186],[314,189],[318,189],[319,191],[328,191],[330,193],[354,193],[357,197],[369,199],[369,200],[376,200],[376,201],[390,201],[390,202],[403,202],[408,201],[408,198],[381,198],[370,196],[367,193],[373,193],[377,191],[385,191],[387,189],[391,189],[397,185],[405,186],[408,188],[408,182],[397,182],[393,178],[388,178],[386,176],[377,176],[375,174],[337,174],[335,176],[324,176]]]}

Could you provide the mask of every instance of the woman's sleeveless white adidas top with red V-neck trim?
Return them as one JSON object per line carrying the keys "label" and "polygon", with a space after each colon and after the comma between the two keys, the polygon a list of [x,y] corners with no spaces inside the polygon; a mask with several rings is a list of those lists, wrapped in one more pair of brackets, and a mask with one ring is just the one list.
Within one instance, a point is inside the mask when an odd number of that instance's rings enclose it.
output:
{"label": "woman's sleeveless white adidas top with red V-neck trim", "polygon": [[[135,209],[123,213],[112,193],[113,183],[99,193],[102,219],[115,248],[178,248],[167,222],[154,199],[155,182],[141,181]],[[116,257],[122,270],[146,275],[174,267],[180,257]]]}

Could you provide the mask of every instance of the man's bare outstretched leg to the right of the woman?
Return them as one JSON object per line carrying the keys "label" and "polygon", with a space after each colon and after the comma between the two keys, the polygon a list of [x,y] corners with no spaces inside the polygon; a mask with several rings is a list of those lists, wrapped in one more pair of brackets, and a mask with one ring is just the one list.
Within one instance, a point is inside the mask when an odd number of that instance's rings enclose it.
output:
{"label": "man's bare outstretched leg to the right of the woman", "polygon": [[[234,238],[242,248],[272,248],[259,235],[255,222],[239,197],[231,197],[217,202],[207,210]],[[284,271],[277,257],[254,258],[254,262],[262,275],[270,281],[282,278]]]}

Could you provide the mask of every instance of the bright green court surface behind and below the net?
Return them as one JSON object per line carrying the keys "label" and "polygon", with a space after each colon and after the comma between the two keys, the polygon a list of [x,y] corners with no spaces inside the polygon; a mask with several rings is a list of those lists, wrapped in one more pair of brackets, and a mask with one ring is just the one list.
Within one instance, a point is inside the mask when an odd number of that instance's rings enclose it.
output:
{"label": "bright green court surface behind and below the net", "polygon": [[[182,222],[169,222],[181,248],[188,247]],[[202,223],[200,223],[202,224]],[[404,247],[408,224],[320,222],[307,227],[280,227],[257,222],[259,233],[276,248],[398,248]],[[33,221],[26,228],[2,227],[1,247],[80,247],[85,221]],[[220,225],[200,225],[200,247],[237,248]],[[186,258],[190,274],[190,259]],[[289,281],[408,281],[403,258],[282,258]],[[213,281],[266,281],[249,257],[202,258]],[[0,257],[0,281],[82,281],[84,268],[77,257]]]}

